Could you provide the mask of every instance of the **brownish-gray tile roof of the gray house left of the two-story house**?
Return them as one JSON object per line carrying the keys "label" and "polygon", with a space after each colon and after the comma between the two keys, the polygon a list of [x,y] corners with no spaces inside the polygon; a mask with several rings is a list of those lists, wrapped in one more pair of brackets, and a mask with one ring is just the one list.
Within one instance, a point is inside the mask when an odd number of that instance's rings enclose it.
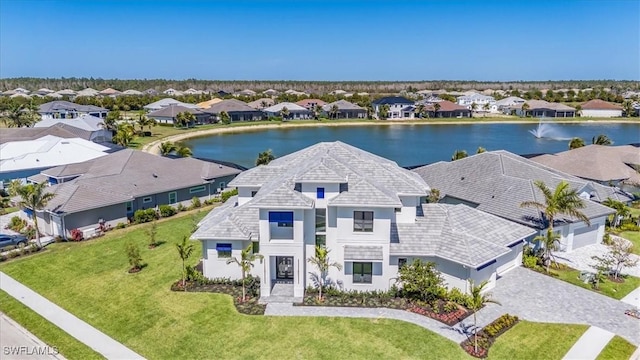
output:
{"label": "brownish-gray tile roof of the gray house left of the two-story house", "polygon": [[52,187],[57,196],[47,206],[56,212],[78,212],[134,198],[201,185],[240,170],[191,158],[170,159],[122,150],[84,163],[58,166],[41,173],[77,178]]}

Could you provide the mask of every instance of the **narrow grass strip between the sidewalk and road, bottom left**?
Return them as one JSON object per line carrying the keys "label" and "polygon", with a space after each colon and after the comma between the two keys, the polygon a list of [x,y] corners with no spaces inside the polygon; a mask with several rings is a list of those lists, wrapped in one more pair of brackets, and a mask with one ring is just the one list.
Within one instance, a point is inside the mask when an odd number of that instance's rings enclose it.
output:
{"label": "narrow grass strip between the sidewalk and road, bottom left", "polygon": [[68,359],[103,359],[90,347],[0,290],[0,310]]}

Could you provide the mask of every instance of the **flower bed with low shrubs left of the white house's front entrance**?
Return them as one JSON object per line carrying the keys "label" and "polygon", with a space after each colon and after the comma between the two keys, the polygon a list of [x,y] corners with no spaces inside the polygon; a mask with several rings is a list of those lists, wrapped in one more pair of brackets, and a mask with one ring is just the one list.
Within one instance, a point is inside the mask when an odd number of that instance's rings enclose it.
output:
{"label": "flower bed with low shrubs left of the white house's front entrance", "polygon": [[239,313],[247,315],[264,315],[266,305],[258,304],[258,299],[260,298],[260,279],[248,279],[247,283],[246,301],[242,301],[241,280],[187,280],[185,282],[185,286],[182,285],[182,280],[178,280],[171,285],[171,290],[184,292],[186,287],[186,292],[213,292],[231,295],[231,297],[233,298],[233,304],[235,305]]}

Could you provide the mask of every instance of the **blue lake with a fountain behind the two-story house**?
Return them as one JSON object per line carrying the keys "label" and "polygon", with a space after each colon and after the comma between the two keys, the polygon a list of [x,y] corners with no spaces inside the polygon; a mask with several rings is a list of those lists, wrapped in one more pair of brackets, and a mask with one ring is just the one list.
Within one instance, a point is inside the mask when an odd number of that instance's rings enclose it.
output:
{"label": "blue lake with a fountain behind the two-story house", "polygon": [[536,138],[530,133],[536,128],[537,124],[319,126],[212,135],[185,143],[194,156],[246,167],[254,166],[258,153],[266,149],[279,157],[320,141],[336,140],[394,160],[400,166],[449,161],[455,150],[471,155],[479,146],[516,154],[555,153],[568,150],[572,137],[581,137],[589,144],[599,134],[607,135],[616,145],[640,143],[640,123],[543,124],[543,132],[553,139]]}

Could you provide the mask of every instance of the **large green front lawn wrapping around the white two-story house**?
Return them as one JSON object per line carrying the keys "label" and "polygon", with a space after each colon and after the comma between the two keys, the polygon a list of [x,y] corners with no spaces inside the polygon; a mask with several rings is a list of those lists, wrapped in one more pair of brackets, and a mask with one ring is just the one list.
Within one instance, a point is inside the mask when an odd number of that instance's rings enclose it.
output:
{"label": "large green front lawn wrapping around the white two-story house", "polygon": [[[247,316],[237,313],[227,295],[171,292],[181,271],[175,244],[190,233],[191,218],[158,222],[157,238],[166,243],[153,250],[146,247],[149,226],[53,244],[0,270],[149,359],[469,358],[458,344],[405,322]],[[133,275],[124,253],[129,241],[140,246],[147,264]],[[194,245],[191,264],[200,257]],[[0,310],[9,307],[0,302]],[[24,314],[15,316],[26,322]]]}

